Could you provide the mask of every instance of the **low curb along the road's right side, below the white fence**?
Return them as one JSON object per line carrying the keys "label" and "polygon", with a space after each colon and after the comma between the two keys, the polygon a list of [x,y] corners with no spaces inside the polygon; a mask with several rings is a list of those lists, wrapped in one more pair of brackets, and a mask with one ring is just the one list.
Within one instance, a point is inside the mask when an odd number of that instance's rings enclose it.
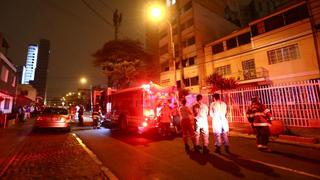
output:
{"label": "low curb along the road's right side, below the white fence", "polygon": [[[232,132],[232,131],[229,132],[229,135],[234,136],[234,137],[247,138],[247,139],[255,139],[256,138],[254,135],[242,134],[242,133]],[[288,141],[288,140],[283,140],[283,139],[278,139],[278,138],[275,139],[274,137],[270,137],[270,142],[281,143],[281,144],[290,144],[290,145],[320,150],[320,144],[307,144],[307,143]]]}

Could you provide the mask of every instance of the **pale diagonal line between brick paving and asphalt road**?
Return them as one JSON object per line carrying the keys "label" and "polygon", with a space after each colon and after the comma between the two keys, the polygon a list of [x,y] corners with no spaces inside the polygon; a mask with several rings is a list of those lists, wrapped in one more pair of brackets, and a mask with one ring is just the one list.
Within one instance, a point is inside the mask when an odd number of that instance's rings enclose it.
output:
{"label": "pale diagonal line between brick paving and asphalt road", "polygon": [[89,154],[89,156],[100,166],[100,169],[105,173],[105,175],[110,180],[118,180],[117,176],[114,175],[107,167],[105,167],[98,157],[82,142],[82,140],[75,134],[72,133],[72,136],[76,138],[78,143],[83,147],[83,149]]}

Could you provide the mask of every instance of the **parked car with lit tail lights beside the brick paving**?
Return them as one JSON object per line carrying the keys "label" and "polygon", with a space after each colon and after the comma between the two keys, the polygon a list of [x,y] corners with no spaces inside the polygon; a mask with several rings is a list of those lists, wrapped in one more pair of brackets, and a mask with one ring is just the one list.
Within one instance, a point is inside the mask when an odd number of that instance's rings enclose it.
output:
{"label": "parked car with lit tail lights beside the brick paving", "polygon": [[34,127],[39,128],[63,128],[70,131],[70,119],[67,109],[57,107],[46,107],[38,115]]}

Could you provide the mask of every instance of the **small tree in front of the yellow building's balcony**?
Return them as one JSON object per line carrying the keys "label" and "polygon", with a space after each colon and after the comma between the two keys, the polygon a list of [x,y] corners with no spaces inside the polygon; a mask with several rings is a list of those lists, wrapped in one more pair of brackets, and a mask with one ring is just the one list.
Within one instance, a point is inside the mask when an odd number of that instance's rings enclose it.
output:
{"label": "small tree in front of the yellow building's balcony", "polygon": [[212,86],[212,92],[220,90],[221,95],[224,90],[235,89],[238,86],[238,83],[234,78],[224,78],[218,73],[212,73],[209,75],[206,82]]}

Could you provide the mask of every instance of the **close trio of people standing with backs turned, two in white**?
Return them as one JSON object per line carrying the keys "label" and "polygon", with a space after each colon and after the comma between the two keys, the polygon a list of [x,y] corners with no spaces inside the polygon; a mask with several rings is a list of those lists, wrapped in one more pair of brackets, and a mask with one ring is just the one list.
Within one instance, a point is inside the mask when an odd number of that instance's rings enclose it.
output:
{"label": "close trio of people standing with backs turned, two in white", "polygon": [[[182,100],[182,106],[179,109],[181,117],[182,138],[185,144],[185,150],[189,151],[188,137],[191,138],[195,152],[209,152],[209,125],[208,115],[212,119],[213,133],[215,135],[215,152],[221,153],[222,143],[226,152],[229,153],[229,140],[227,132],[229,131],[228,120],[226,118],[227,105],[220,100],[219,94],[213,95],[214,101],[208,107],[202,102],[202,95],[197,95],[197,102],[192,106],[192,111],[186,106],[186,100]],[[203,146],[200,146],[202,140]],[[222,141],[223,140],[223,141]]]}

